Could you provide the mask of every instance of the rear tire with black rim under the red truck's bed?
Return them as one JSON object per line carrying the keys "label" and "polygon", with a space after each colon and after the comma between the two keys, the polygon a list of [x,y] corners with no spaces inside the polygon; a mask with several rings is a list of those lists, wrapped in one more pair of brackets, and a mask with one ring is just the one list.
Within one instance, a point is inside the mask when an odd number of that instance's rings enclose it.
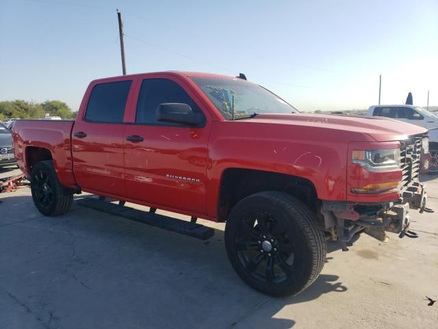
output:
{"label": "rear tire with black rim under the red truck's bed", "polygon": [[51,160],[40,161],[35,165],[30,188],[34,204],[44,216],[62,215],[73,204],[73,194],[64,191]]}

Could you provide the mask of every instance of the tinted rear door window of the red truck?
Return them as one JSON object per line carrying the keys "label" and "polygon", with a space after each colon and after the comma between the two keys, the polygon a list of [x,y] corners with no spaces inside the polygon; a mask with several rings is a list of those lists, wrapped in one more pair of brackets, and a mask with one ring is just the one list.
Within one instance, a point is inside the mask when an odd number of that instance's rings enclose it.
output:
{"label": "tinted rear door window of the red truck", "polygon": [[120,123],[123,121],[131,80],[97,84],[91,91],[86,121]]}

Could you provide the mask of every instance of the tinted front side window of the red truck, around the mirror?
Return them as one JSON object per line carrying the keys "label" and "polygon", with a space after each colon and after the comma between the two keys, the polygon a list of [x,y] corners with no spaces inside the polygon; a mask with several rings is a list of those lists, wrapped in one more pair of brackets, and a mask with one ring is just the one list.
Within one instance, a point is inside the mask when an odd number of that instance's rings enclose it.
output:
{"label": "tinted front side window of the red truck, around the mirror", "polygon": [[176,82],[167,79],[145,79],[138,96],[136,123],[181,126],[177,123],[157,121],[157,106],[161,103],[185,103],[193,112],[202,113],[188,93]]}

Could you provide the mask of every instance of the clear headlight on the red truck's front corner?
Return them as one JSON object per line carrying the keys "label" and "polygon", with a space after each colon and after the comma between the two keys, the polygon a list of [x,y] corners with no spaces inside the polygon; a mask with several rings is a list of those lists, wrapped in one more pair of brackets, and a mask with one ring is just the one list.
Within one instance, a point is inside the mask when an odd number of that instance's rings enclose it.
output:
{"label": "clear headlight on the red truck's front corner", "polygon": [[360,164],[367,171],[400,169],[400,149],[370,149],[352,151],[351,162]]}

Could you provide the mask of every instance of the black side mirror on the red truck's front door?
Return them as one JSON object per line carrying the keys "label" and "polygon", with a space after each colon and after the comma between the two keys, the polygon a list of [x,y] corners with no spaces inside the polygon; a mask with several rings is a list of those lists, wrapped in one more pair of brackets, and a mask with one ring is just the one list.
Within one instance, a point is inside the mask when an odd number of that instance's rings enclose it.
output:
{"label": "black side mirror on the red truck's front door", "polygon": [[188,104],[161,103],[157,106],[157,121],[200,125],[204,120],[203,114],[194,113]]}

